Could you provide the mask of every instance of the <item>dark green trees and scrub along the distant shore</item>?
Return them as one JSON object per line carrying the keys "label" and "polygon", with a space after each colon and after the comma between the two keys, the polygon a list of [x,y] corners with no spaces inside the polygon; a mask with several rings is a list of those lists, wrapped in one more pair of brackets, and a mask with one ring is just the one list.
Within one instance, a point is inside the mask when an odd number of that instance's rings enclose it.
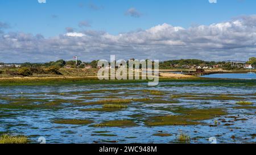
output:
{"label": "dark green trees and scrub along the distant shore", "polygon": [[[134,60],[132,58],[131,60]],[[147,60],[146,60],[147,62]],[[154,62],[152,62],[154,64]],[[256,66],[256,57],[249,58],[247,64],[252,65],[253,67]],[[0,62],[0,65],[5,65],[3,62]],[[46,63],[31,63],[25,62],[20,65],[18,69],[16,67],[9,66],[5,70],[0,70],[0,74],[6,73],[12,76],[32,76],[33,73],[35,74],[61,74],[60,68],[64,68],[64,66],[69,66],[69,68],[85,68],[86,65],[90,65],[92,68],[97,68],[98,60],[93,60],[92,62],[82,62],[81,60],[57,60],[57,61],[50,61]],[[127,61],[128,65],[128,61]],[[216,62],[216,61],[203,61],[197,59],[180,59],[180,60],[168,60],[159,62],[160,69],[170,69],[170,68],[187,68],[189,66],[214,66],[214,65],[221,65],[221,68],[232,70],[238,69],[238,66],[234,66],[230,63],[226,62]]]}

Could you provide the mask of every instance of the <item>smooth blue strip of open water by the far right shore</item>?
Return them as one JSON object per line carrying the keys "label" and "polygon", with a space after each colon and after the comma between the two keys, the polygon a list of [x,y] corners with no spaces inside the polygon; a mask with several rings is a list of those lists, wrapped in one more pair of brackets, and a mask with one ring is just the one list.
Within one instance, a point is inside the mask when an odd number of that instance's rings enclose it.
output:
{"label": "smooth blue strip of open water by the far right shore", "polygon": [[206,78],[236,78],[236,79],[256,79],[256,74],[210,74],[207,76],[202,76]]}

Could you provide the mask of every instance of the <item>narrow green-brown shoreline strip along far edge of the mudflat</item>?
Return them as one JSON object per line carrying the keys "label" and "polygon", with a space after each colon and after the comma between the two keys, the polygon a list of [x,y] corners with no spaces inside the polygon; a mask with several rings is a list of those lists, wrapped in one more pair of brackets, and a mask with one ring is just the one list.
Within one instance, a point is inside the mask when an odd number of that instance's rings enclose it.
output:
{"label": "narrow green-brown shoreline strip along far edge of the mudflat", "polygon": [[[204,77],[159,77],[159,82],[173,81],[249,81],[248,79],[204,78]],[[252,79],[254,80],[254,79]],[[67,85],[67,84],[115,84],[115,83],[146,83],[150,80],[100,80],[97,77],[24,77],[0,78],[0,86],[31,86],[31,85]]]}

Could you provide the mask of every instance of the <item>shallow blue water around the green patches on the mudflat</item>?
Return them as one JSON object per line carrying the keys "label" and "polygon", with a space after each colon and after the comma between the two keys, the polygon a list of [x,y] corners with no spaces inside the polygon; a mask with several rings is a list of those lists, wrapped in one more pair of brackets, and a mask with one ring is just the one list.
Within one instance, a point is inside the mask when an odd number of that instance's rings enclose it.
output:
{"label": "shallow blue water around the green patches on the mudflat", "polygon": [[[222,74],[223,75],[223,74]],[[230,76],[230,74],[229,74]],[[104,90],[97,93],[83,93],[90,90]],[[109,91],[108,91],[109,90]],[[113,93],[113,90],[115,92]],[[159,90],[163,95],[143,93],[142,90]],[[30,136],[36,141],[40,136],[46,137],[47,143],[177,143],[177,135],[185,133],[191,137],[191,143],[209,143],[209,137],[216,137],[218,143],[255,143],[256,133],[256,81],[172,81],[149,87],[147,83],[104,84],[104,85],[53,85],[53,86],[5,86],[0,87],[0,105],[15,104],[15,99],[29,104],[40,104],[40,100],[67,100],[59,109],[26,109],[0,107],[0,133],[8,132]],[[76,93],[74,93],[76,92]],[[61,94],[60,94],[61,93]],[[63,94],[64,93],[64,94]],[[115,112],[79,111],[81,108],[100,108],[101,105],[75,106],[71,99],[82,102],[94,102],[109,97],[121,99],[152,98],[172,100],[171,95],[190,94],[199,97],[212,97],[229,94],[253,102],[251,108],[235,108],[237,100],[194,100],[177,98],[179,103],[143,103],[133,102],[128,108]],[[105,97],[105,98],[104,98]],[[21,102],[21,101],[20,101]],[[26,103],[26,102],[25,102]],[[20,103],[22,104],[22,103]],[[228,112],[226,116],[201,120],[201,125],[170,125],[147,127],[144,120],[151,116],[177,115],[160,108],[222,108]],[[13,114],[13,116],[7,116]],[[139,118],[134,115],[142,115]],[[234,116],[237,119],[234,120]],[[239,118],[239,119],[238,119]],[[138,124],[137,127],[90,127],[90,125],[55,124],[55,119],[91,119],[95,123],[106,120],[129,119]],[[215,127],[214,122],[219,122]],[[225,121],[225,122],[224,122]],[[109,131],[117,136],[95,136],[95,131]],[[153,136],[155,133],[170,133],[169,137]],[[235,136],[235,139],[231,137]],[[133,139],[127,138],[133,137]]]}

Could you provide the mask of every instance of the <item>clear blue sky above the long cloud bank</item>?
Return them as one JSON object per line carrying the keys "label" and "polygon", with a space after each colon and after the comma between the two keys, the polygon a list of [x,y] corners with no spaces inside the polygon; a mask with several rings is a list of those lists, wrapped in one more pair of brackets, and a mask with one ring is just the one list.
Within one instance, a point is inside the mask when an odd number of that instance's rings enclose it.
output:
{"label": "clear blue sky above the long cloud bank", "polygon": [[[8,31],[41,33],[55,36],[65,27],[78,26],[87,21],[86,30],[106,31],[111,34],[147,29],[158,24],[190,27],[196,24],[224,22],[236,16],[255,14],[254,0],[38,0],[0,1],[0,21],[9,23]],[[134,18],[125,12],[134,7],[141,16]]]}

